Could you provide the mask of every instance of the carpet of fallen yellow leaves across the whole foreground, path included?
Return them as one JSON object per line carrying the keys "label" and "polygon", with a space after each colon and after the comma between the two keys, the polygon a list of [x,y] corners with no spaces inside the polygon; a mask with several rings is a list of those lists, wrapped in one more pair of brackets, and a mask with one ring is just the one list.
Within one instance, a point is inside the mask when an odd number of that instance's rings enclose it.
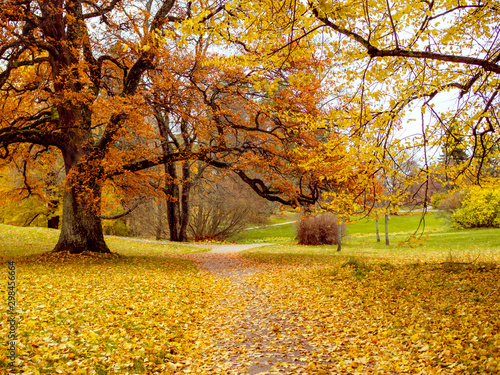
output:
{"label": "carpet of fallen yellow leaves across the whole foreground, path included", "polygon": [[17,367],[2,341],[0,373],[500,372],[497,253],[176,249],[18,258]]}

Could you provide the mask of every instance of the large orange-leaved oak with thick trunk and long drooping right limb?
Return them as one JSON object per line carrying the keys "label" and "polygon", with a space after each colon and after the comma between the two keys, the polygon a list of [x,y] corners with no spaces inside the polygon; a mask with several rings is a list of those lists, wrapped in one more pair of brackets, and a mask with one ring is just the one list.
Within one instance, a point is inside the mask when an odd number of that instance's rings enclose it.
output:
{"label": "large orange-leaved oak with thick trunk and long drooping right limb", "polygon": [[[2,5],[0,146],[4,157],[20,144],[62,156],[67,178],[54,251],[108,252],[103,186],[144,192],[155,178],[151,168],[162,164],[170,179],[177,161],[197,159],[228,169],[261,197],[283,204],[313,204],[319,198],[320,174],[302,164],[305,153],[316,150],[316,129],[308,123],[321,114],[315,97],[324,59],[299,56],[293,65],[274,69],[259,63],[250,71],[222,68],[227,56],[199,54],[190,43],[207,35],[218,43],[230,40],[224,31],[234,17],[227,4],[12,0]],[[219,24],[222,15],[227,19]],[[146,76],[172,67],[175,74],[161,80],[156,79],[161,74]],[[297,79],[301,76],[306,81]],[[181,83],[185,88],[177,86]],[[177,96],[175,111],[165,107],[172,96],[148,104],[155,92],[151,84],[159,85],[156,92],[161,85],[170,87],[168,95]],[[190,110],[194,106],[197,112]],[[149,121],[154,115],[161,120],[161,111],[164,120],[173,116],[196,138],[169,148],[176,136],[168,135],[161,121]],[[167,193],[176,199],[175,188]]]}

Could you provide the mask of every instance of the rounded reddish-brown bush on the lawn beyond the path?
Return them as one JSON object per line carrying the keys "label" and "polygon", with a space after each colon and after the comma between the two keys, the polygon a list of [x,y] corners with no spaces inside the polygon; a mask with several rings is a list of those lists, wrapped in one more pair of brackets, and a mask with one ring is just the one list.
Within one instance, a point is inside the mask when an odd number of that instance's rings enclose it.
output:
{"label": "rounded reddish-brown bush on the lawn beyond the path", "polygon": [[305,216],[297,224],[299,245],[336,245],[338,230],[337,217],[333,214]]}

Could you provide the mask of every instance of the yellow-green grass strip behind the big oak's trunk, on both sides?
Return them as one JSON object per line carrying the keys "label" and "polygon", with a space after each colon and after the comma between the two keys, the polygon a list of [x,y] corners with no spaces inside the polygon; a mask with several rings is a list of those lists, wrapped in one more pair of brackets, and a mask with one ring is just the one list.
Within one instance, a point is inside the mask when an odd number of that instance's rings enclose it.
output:
{"label": "yellow-green grass strip behind the big oak's trunk, on both sides", "polygon": [[[0,257],[20,257],[51,251],[59,231],[47,228],[23,228],[0,224]],[[201,253],[207,249],[171,244],[139,242],[128,238],[110,237],[106,243],[112,252],[126,256]]]}

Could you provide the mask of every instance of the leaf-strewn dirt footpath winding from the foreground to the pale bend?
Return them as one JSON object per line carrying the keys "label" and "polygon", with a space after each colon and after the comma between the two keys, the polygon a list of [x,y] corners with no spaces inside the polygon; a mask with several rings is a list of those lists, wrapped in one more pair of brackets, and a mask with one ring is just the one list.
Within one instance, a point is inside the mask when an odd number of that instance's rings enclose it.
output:
{"label": "leaf-strewn dirt footpath winding from the foreground to the pale bend", "polygon": [[[237,251],[263,245],[218,245],[206,253],[181,257],[195,262],[207,277],[229,283],[228,292],[202,324],[200,341],[208,346],[198,360],[190,360],[182,372],[197,374],[306,374],[306,353],[316,352],[301,325],[294,324],[297,311],[279,308],[271,293],[251,280],[265,270]],[[317,352],[319,362],[329,362]],[[323,373],[323,372],[318,372]]]}

